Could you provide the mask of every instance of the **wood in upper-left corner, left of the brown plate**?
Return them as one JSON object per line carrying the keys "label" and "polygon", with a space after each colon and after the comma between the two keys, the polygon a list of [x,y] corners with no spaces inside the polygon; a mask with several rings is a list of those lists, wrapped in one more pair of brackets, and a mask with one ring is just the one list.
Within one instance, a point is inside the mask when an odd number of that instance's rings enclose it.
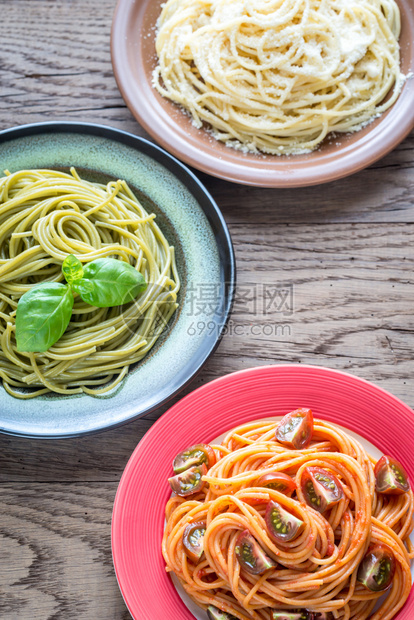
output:
{"label": "wood in upper-left corner, left of the brown plate", "polygon": [[111,66],[115,5],[115,0],[91,0],[87,6],[82,0],[0,2],[2,128],[62,118],[118,122],[125,129],[133,123]]}

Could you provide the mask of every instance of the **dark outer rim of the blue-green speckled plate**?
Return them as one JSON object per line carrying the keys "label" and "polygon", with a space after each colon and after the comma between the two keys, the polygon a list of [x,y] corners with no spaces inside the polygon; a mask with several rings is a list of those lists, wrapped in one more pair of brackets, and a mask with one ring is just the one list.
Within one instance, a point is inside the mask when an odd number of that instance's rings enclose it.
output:
{"label": "dark outer rim of the blue-green speckled plate", "polygon": [[[134,134],[110,127],[108,125],[77,121],[46,121],[41,123],[18,125],[4,129],[0,131],[0,145],[19,138],[47,133],[79,133],[106,138],[113,142],[120,142],[121,144],[139,150],[167,168],[167,170],[174,174],[174,176],[176,176],[185,185],[186,189],[194,196],[200,209],[206,216],[208,224],[211,226],[217,243],[221,270],[220,275],[224,284],[224,290],[222,293],[223,303],[220,304],[220,315],[218,319],[219,329],[215,330],[215,339],[211,341],[211,344],[210,341],[208,343],[203,343],[202,347],[199,347],[195,354],[189,359],[184,367],[186,375],[185,379],[179,380],[177,384],[173,382],[167,393],[165,395],[163,393],[163,395],[148,408],[143,408],[142,406],[138,407],[139,401],[130,401],[128,407],[124,407],[125,417],[121,421],[109,424],[97,424],[93,428],[86,431],[70,431],[62,434],[24,433],[21,431],[13,431],[12,429],[3,428],[0,425],[0,433],[5,435],[31,439],[69,439],[118,428],[124,424],[132,422],[133,420],[146,416],[163,405],[169,403],[177,394],[181,393],[189,383],[191,383],[191,381],[206,364],[207,360],[211,357],[211,355],[213,355],[223,337],[223,331],[230,317],[234,301],[236,286],[236,261],[230,232],[216,201],[197,176],[187,166],[167,153],[160,146],[154,144],[150,140],[141,138],[140,136],[135,136]],[[203,354],[197,355],[199,354],[200,349],[203,350]],[[197,364],[192,366],[191,361],[197,357]]]}

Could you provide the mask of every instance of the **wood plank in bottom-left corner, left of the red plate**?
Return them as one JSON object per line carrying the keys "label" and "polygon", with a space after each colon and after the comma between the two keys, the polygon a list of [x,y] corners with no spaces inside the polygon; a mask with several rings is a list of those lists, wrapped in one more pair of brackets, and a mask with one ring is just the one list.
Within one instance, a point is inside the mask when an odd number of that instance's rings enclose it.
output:
{"label": "wood plank in bottom-left corner, left of the red plate", "polygon": [[131,617],[112,565],[115,492],[113,483],[0,485],[2,620]]}

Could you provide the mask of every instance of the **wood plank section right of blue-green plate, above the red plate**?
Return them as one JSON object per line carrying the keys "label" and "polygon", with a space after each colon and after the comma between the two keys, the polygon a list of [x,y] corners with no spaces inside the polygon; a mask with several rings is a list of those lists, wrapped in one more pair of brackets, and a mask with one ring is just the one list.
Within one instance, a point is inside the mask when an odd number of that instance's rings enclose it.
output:
{"label": "wood plank section right of blue-green plate, above the red plate", "polygon": [[[232,320],[259,327],[247,335],[233,330],[223,340],[224,364],[231,357],[233,369],[273,362],[327,365],[377,382],[413,404],[411,225],[238,224],[233,231],[238,292],[257,282],[259,312],[252,316],[236,304]],[[292,287],[291,315],[277,307],[264,312],[264,289],[272,283]],[[266,336],[263,325],[277,329]]]}

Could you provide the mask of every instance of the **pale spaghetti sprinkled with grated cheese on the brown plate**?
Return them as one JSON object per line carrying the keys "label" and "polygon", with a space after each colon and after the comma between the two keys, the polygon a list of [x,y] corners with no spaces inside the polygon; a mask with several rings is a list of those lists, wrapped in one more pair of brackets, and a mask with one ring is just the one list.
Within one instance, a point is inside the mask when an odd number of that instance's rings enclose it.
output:
{"label": "pale spaghetti sprinkled with grated cheese on the brown plate", "polygon": [[245,152],[357,131],[405,79],[395,0],[168,0],[158,27],[155,88]]}

